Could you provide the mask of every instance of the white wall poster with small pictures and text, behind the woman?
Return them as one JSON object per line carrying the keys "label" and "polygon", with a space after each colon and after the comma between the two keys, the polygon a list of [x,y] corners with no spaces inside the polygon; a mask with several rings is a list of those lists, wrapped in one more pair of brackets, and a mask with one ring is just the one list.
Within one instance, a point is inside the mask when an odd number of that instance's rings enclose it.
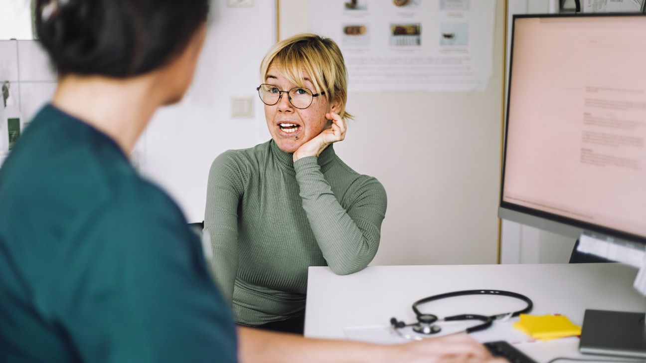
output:
{"label": "white wall poster with small pictures and text, behind the woman", "polygon": [[492,74],[495,0],[311,1],[355,92],[469,92]]}

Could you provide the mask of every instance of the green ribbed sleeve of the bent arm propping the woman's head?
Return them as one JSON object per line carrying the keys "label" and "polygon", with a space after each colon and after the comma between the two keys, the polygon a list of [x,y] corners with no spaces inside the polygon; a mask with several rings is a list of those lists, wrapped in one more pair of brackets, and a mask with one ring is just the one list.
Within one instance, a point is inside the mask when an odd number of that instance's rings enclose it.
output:
{"label": "green ribbed sleeve of the bent arm propping the woman's head", "polygon": [[318,247],[334,273],[348,275],[366,268],[379,247],[386,214],[386,191],[375,178],[357,178],[346,211],[320,171],[317,158],[294,163],[303,209]]}

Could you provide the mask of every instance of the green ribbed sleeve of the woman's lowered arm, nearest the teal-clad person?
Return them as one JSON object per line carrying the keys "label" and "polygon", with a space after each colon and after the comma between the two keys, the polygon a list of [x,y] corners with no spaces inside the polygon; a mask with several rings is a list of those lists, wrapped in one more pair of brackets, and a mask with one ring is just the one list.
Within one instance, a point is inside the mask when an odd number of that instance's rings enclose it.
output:
{"label": "green ribbed sleeve of the woman's lowered arm, nearest the teal-clad person", "polygon": [[211,240],[213,251],[209,269],[229,307],[238,273],[238,203],[245,175],[233,151],[227,151],[213,161],[207,186],[204,234]]}

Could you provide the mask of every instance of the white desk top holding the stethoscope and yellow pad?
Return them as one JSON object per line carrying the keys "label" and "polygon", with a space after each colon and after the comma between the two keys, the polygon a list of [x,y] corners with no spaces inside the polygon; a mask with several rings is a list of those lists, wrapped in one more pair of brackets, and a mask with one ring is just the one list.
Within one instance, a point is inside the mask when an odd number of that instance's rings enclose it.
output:
{"label": "white desk top holding the stethoscope and yellow pad", "polygon": [[[636,274],[637,269],[621,264],[371,266],[348,276],[309,267],[305,335],[344,339],[346,327],[385,326],[392,316],[413,322],[416,300],[469,289],[521,293],[534,301],[532,315],[560,313],[581,325],[587,308],[644,311],[646,299],[632,289]],[[522,306],[511,298],[461,296],[420,310],[443,317],[493,315]],[[581,356],[576,338],[516,346],[537,362]]]}

